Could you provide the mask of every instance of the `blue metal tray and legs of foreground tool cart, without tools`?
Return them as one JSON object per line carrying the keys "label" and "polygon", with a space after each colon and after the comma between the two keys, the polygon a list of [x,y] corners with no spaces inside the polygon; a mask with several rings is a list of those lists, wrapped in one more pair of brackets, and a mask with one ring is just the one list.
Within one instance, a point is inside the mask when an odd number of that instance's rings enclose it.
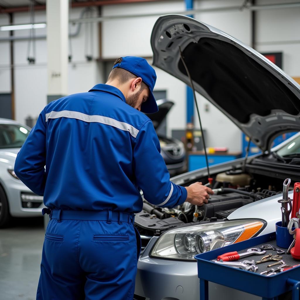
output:
{"label": "blue metal tray and legs of foreground tool cart, without tools", "polygon": [[[300,287],[299,266],[268,277],[260,275],[259,273],[219,265],[211,261],[224,253],[247,250],[259,244],[268,244],[275,239],[276,235],[275,232],[273,232],[196,255],[198,277],[200,278],[200,300],[209,299],[208,281],[257,295],[262,297],[262,299],[277,299],[278,295],[292,290],[292,299],[298,300]],[[251,257],[252,256],[248,256],[246,259],[251,259]],[[295,265],[298,263],[300,262],[295,260]]]}

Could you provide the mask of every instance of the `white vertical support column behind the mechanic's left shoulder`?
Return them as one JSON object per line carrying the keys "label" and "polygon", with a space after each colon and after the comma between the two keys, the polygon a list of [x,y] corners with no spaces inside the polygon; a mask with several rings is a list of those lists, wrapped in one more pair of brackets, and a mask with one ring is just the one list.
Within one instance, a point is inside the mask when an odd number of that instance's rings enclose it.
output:
{"label": "white vertical support column behind the mechanic's left shoulder", "polygon": [[67,95],[69,1],[47,0],[47,103]]}

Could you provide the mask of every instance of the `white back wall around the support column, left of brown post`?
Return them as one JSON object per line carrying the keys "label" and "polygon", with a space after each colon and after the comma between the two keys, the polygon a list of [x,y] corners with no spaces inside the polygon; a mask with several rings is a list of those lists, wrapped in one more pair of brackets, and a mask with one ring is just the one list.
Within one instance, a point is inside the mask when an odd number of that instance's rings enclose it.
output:
{"label": "white back wall around the support column, left of brown post", "polygon": [[[80,12],[84,8],[72,9],[70,17],[79,18]],[[95,9],[94,9],[95,10]],[[94,16],[97,12],[95,10]],[[30,21],[29,14],[15,13],[14,23],[24,24]],[[35,22],[45,22],[45,11],[37,11]],[[0,24],[7,25],[8,18],[0,14]],[[75,32],[76,26],[70,27],[70,32]],[[7,35],[8,32],[0,32],[0,37]],[[18,30],[15,35],[28,36],[29,30]],[[37,36],[46,35],[46,29],[36,29]],[[68,73],[68,94],[88,91],[97,83],[98,64],[95,60],[99,57],[98,49],[98,25],[93,23],[93,61],[85,59],[85,25],[77,37],[72,38],[72,62],[69,63]],[[25,122],[27,116],[37,117],[44,106],[47,104],[47,51],[46,39],[36,41],[36,63],[29,65],[27,61],[28,41],[14,42],[14,65],[15,65],[15,107],[16,120]],[[0,92],[10,92],[10,56],[9,43],[0,42]],[[3,55],[2,55],[3,53]],[[90,53],[88,53],[90,54]],[[32,52],[30,54],[32,56]],[[3,78],[3,80],[2,80]]]}

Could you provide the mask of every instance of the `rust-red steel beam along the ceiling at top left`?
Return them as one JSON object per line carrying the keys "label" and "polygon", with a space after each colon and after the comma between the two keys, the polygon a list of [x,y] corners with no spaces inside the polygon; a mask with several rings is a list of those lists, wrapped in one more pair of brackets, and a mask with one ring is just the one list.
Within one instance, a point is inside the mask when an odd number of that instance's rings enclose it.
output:
{"label": "rust-red steel beam along the ceiling at top left", "polygon": [[[101,5],[110,5],[110,4],[154,2],[154,1],[162,1],[162,0],[101,0],[101,1],[72,2],[71,5],[73,8],[73,7],[86,7],[86,6],[101,6]],[[46,5],[35,5],[35,10],[46,10]],[[0,8],[0,13],[19,13],[22,11],[28,11],[28,6]]]}

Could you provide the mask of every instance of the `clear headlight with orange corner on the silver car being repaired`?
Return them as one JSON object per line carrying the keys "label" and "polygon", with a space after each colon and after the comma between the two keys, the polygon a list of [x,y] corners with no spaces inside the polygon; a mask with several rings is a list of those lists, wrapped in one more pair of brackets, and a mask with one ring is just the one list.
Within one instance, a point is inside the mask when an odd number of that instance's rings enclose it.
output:
{"label": "clear headlight with orange corner on the silver car being repaired", "polygon": [[263,220],[232,220],[186,226],[163,233],[150,255],[158,258],[195,260],[199,253],[247,240],[265,227]]}

